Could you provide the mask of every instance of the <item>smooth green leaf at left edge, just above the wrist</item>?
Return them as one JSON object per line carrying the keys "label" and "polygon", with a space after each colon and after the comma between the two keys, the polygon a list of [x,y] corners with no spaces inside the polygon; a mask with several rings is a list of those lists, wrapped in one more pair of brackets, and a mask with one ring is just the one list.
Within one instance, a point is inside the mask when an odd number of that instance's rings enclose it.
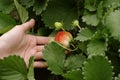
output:
{"label": "smooth green leaf at left edge, just above the wrist", "polygon": [[0,34],[3,34],[16,25],[15,20],[6,14],[0,13]]}

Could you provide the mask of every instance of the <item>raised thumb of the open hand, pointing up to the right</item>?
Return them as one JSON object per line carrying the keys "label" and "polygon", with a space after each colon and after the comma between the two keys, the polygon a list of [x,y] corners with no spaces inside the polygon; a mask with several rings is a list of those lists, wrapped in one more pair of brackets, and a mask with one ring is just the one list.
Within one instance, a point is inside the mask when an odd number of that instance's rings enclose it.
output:
{"label": "raised thumb of the open hand, pointing up to the right", "polygon": [[29,29],[31,29],[35,25],[35,20],[31,19],[26,23],[23,23],[21,26],[23,27],[23,30],[26,32]]}

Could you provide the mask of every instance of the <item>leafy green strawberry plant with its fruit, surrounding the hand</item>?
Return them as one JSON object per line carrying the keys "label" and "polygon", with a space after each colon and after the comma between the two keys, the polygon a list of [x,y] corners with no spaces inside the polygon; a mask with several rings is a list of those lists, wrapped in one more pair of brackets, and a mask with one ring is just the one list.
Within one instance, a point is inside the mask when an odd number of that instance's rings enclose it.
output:
{"label": "leafy green strawberry plant with its fruit, surrounding the hand", "polygon": [[9,56],[0,59],[0,80],[120,80],[120,0],[0,0],[1,35],[30,18],[30,34],[55,37],[43,50],[45,79],[33,57],[27,69]]}

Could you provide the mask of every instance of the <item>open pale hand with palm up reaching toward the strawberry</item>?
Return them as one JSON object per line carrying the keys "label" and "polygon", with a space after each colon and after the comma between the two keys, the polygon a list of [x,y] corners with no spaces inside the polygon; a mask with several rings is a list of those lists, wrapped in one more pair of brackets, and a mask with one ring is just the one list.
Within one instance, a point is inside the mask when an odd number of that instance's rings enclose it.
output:
{"label": "open pale hand with palm up reaching toward the strawberry", "polygon": [[[16,25],[13,29],[2,35],[0,37],[0,58],[14,54],[19,55],[24,58],[27,67],[31,56],[34,56],[37,60],[43,59],[42,50],[50,38],[26,34],[34,24],[35,20],[31,19],[22,25]],[[34,62],[34,67],[44,68],[46,66],[43,61]]]}

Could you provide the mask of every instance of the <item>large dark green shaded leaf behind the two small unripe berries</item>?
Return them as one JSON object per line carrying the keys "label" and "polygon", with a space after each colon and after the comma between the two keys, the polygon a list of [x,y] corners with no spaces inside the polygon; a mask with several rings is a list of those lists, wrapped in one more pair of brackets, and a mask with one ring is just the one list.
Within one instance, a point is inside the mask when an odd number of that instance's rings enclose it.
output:
{"label": "large dark green shaded leaf behind the two small unripe berries", "polygon": [[78,20],[77,7],[74,0],[52,0],[42,14],[42,20],[45,25],[54,29],[55,22],[62,22],[64,29],[73,28],[72,22]]}

